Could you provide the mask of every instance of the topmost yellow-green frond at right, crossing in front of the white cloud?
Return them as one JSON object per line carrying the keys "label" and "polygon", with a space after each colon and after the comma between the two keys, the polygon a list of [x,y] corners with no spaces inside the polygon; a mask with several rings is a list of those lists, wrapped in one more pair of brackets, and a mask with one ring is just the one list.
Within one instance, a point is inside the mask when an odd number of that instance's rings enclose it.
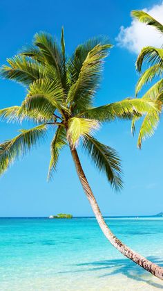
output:
{"label": "topmost yellow-green frond at right, crossing in front of the white cloud", "polygon": [[148,13],[142,10],[133,10],[131,11],[131,15],[140,22],[150,26],[154,26],[155,28],[157,28],[157,31],[163,33],[163,25],[160,22],[157,22],[157,20],[151,15],[148,15]]}

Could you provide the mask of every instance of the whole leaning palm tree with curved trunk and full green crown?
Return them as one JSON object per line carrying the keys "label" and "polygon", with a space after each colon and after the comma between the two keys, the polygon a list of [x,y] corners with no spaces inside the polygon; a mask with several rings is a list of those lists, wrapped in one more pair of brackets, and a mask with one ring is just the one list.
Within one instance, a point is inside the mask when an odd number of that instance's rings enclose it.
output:
{"label": "whole leaning palm tree with curved trunk and full green crown", "polygon": [[73,56],[67,58],[62,29],[61,45],[51,35],[39,33],[35,35],[31,47],[7,60],[8,65],[1,67],[1,76],[25,85],[27,95],[21,106],[0,110],[1,119],[8,119],[10,122],[29,119],[35,122],[35,127],[21,129],[15,138],[0,144],[0,174],[8,169],[15,158],[27,153],[41,138],[45,138],[48,128],[51,128],[55,135],[50,145],[48,178],[52,178],[59,153],[67,144],[81,185],[106,238],[124,256],[163,278],[162,267],[131,250],[108,228],[77,153],[77,144],[80,144],[99,171],[106,174],[113,188],[121,189],[121,166],[117,152],[96,140],[93,132],[103,122],[132,119],[133,116],[146,114],[151,108],[160,110],[159,103],[146,99],[124,99],[93,107],[93,98],[102,77],[104,58],[111,47],[107,40],[93,38],[79,45]]}

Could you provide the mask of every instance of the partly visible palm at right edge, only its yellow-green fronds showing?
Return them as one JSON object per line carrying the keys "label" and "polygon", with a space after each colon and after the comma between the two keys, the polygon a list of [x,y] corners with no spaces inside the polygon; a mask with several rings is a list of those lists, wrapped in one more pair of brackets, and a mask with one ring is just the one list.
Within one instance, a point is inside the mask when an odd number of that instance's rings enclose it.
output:
{"label": "partly visible palm at right edge, only its yellow-green fronds showing", "polygon": [[[160,33],[160,36],[163,36],[163,25],[160,22],[157,22],[151,15],[148,15],[144,11],[133,10],[131,15],[138,19],[140,22],[153,26]],[[144,94],[142,99],[151,99],[157,100],[162,103],[163,101],[163,48],[156,47],[144,47],[137,57],[136,69],[140,73],[142,72],[143,63],[149,64],[148,69],[142,73],[140,76],[137,85],[136,85],[136,96],[138,92],[146,83],[150,83],[154,78],[159,78],[159,80],[151,86],[149,90]],[[142,125],[140,127],[140,132],[138,135],[137,145],[141,148],[142,140],[146,137],[153,135],[155,128],[157,127],[158,122],[160,121],[160,114],[162,112],[162,106],[159,110],[149,110],[148,114],[144,117]],[[135,122],[138,118],[134,117],[132,122],[132,131],[135,133]]]}

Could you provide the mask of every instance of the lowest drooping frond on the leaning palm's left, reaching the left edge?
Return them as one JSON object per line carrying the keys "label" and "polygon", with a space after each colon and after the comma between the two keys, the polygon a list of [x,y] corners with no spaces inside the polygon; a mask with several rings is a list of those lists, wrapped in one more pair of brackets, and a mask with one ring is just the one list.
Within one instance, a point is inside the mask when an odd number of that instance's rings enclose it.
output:
{"label": "lowest drooping frond on the leaning palm's left, reaching the left edge", "polygon": [[46,125],[41,124],[28,130],[21,130],[21,133],[12,140],[7,140],[0,144],[0,174],[8,169],[9,165],[14,162],[15,158],[19,158],[26,154],[40,138],[46,135]]}

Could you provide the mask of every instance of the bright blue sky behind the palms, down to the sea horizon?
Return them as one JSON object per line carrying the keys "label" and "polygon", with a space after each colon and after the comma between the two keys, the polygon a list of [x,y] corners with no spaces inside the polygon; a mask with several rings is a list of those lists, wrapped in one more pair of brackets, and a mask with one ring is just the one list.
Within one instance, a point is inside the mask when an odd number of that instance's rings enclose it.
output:
{"label": "bright blue sky behind the palms, down to the sea horizon", "polygon": [[[66,50],[70,54],[77,44],[95,35],[108,35],[115,47],[104,67],[102,86],[96,105],[111,103],[134,96],[138,75],[135,72],[136,49],[127,49],[128,42],[117,45],[115,38],[121,26],[131,26],[130,12],[150,10],[162,1],[83,0],[70,1],[2,1],[0,11],[1,64],[24,44],[30,44],[38,31],[48,31],[60,37],[64,25]],[[124,33],[128,33],[124,31]],[[128,37],[128,35],[126,35]],[[134,35],[133,35],[134,37]],[[138,40],[136,40],[136,43]],[[0,80],[1,108],[19,105],[26,90],[12,81]],[[23,124],[23,127],[29,124]],[[16,124],[0,124],[0,141],[17,135]],[[163,126],[144,142],[142,150],[131,136],[130,122],[115,122],[101,128],[96,135],[100,141],[114,147],[122,158],[124,190],[116,194],[104,175],[79,151],[99,207],[104,215],[151,215],[163,211],[162,197],[162,134]],[[72,213],[93,215],[79,184],[68,149],[61,153],[54,180],[46,182],[50,160],[49,142],[31,151],[23,160],[0,178],[0,216],[48,216]]]}

